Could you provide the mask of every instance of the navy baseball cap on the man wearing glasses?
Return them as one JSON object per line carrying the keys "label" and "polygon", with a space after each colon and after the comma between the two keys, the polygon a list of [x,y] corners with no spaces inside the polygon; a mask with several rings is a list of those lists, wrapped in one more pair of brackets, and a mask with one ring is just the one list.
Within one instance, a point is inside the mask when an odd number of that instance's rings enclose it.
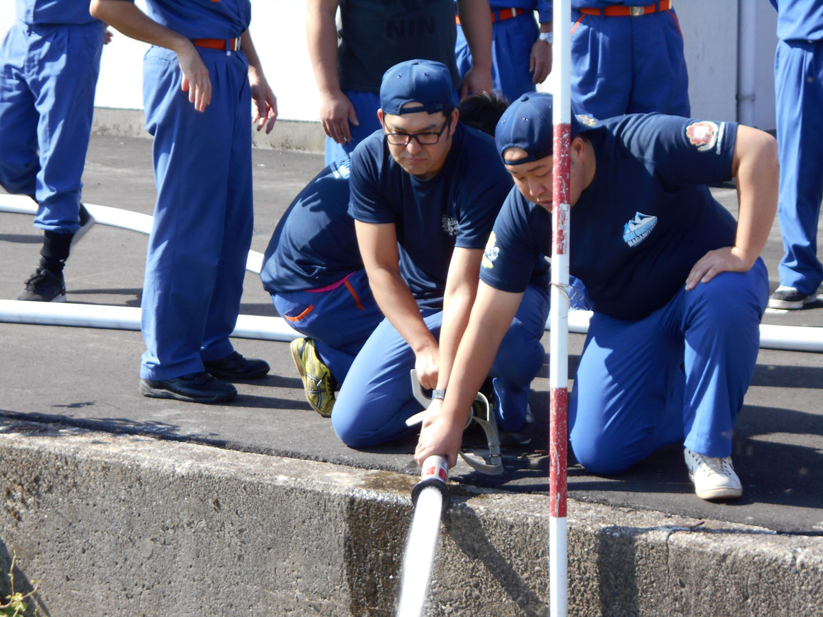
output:
{"label": "navy baseball cap on the man wearing glasses", "polygon": [[[403,108],[407,103],[419,105]],[[384,114],[435,114],[454,109],[452,76],[444,63],[434,60],[407,60],[383,74],[380,108]]]}

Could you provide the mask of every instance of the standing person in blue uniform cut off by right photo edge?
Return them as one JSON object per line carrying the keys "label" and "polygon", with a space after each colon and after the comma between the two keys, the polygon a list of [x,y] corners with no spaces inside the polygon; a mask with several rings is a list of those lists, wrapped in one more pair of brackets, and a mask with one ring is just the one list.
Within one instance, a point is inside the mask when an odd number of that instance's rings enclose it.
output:
{"label": "standing person in blue uniform cut off by right photo edge", "polygon": [[823,2],[771,0],[777,9],[774,98],[780,151],[778,219],[783,235],[780,286],[770,308],[817,299],[823,265],[817,221],[823,199]]}

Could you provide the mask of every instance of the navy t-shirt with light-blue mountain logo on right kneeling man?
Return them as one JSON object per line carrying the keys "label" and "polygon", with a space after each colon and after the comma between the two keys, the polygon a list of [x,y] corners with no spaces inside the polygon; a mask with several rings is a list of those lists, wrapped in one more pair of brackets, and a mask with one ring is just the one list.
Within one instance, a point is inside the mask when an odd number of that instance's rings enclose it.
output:
{"label": "navy t-shirt with light-blue mountain logo on right kneeling man", "polygon": [[[597,166],[570,211],[570,274],[584,282],[594,310],[644,318],[672,299],[700,257],[734,244],[737,222],[705,183],[731,179],[737,124],[630,114],[586,137]],[[481,281],[523,291],[537,253],[551,254],[551,214],[513,188]]]}

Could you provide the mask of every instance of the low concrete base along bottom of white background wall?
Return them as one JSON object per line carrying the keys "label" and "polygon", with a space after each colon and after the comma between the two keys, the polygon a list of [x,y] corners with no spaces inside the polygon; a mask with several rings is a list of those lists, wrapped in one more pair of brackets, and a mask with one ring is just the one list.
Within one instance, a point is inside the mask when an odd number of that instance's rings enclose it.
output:
{"label": "low concrete base along bottom of white background wall", "polygon": [[[256,148],[322,153],[326,147],[326,133],[319,122],[277,120],[272,132],[253,129],[249,115],[249,131]],[[91,132],[119,137],[151,137],[146,132],[146,118],[142,109],[109,109],[96,107]]]}

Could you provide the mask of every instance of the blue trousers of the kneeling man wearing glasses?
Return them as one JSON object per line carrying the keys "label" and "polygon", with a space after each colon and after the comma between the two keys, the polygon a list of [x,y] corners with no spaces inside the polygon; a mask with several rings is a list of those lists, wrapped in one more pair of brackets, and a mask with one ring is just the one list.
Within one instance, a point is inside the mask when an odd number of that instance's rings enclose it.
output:
{"label": "blue trousers of the kneeling man wearing glasses", "polygon": [[[545,351],[540,338],[546,327],[549,298],[545,290],[529,286],[509,332],[500,344],[490,375],[498,405],[495,415],[501,429],[519,429],[528,404],[528,388],[541,369]],[[426,326],[439,338],[443,312],[423,312]],[[385,443],[415,429],[407,418],[421,411],[412,395],[409,371],[415,355],[388,319],[365,342],[332,411],[337,437],[351,448]]]}

